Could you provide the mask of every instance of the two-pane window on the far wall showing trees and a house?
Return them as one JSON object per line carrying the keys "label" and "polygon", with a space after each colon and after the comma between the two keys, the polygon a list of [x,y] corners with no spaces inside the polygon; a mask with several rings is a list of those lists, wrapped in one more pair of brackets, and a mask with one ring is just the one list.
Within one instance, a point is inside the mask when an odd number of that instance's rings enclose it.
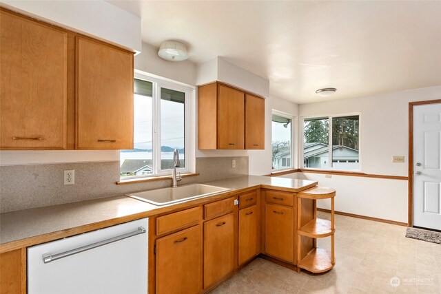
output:
{"label": "two-pane window on the far wall showing trees and a house", "polygon": [[360,169],[359,125],[359,115],[305,118],[303,167]]}

